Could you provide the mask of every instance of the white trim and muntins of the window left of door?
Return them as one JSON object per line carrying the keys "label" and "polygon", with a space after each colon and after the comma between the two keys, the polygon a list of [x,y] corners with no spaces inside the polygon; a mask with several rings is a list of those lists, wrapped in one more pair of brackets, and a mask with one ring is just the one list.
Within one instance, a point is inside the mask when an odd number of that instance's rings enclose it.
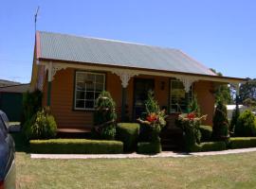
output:
{"label": "white trim and muntins of the window left of door", "polygon": [[[86,99],[84,98],[84,99],[77,99],[77,91],[80,91],[80,90],[78,90],[77,89],[77,78],[78,78],[78,74],[92,74],[92,75],[101,75],[101,76],[103,76],[103,83],[101,83],[101,84],[103,84],[103,90],[105,90],[105,81],[106,81],[106,74],[104,74],[104,73],[100,73],[100,72],[88,72],[88,71],[76,71],[75,72],[75,88],[74,88],[74,90],[75,90],[75,93],[74,93],[74,105],[73,105],[73,108],[74,108],[74,110],[75,111],[95,111],[95,108],[77,108],[76,107],[76,105],[77,105],[77,100],[83,100],[83,101],[86,101]],[[94,90],[93,91],[86,91],[86,89],[85,89],[85,91],[82,91],[82,92],[84,92],[84,94],[86,94],[86,92],[94,92],[94,95],[95,95],[95,81],[94,81]],[[93,99],[93,100],[87,100],[87,101],[94,101],[95,102],[95,98]],[[84,106],[85,106],[85,102],[84,102]]]}

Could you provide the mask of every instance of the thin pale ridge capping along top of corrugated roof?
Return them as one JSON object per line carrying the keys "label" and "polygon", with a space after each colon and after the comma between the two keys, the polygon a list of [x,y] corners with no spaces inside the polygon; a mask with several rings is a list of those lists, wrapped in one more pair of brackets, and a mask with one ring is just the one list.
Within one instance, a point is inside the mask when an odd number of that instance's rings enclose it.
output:
{"label": "thin pale ridge capping along top of corrugated roof", "polygon": [[129,44],[136,44],[136,45],[141,45],[141,46],[156,47],[156,48],[161,48],[161,49],[179,50],[177,48],[172,48],[172,47],[168,47],[168,46],[158,46],[158,45],[145,44],[145,43],[133,43],[133,42],[127,42],[127,41],[121,41],[121,40],[113,40],[113,39],[106,39],[106,38],[82,36],[82,35],[75,35],[75,34],[66,34],[66,33],[42,31],[42,30],[38,30],[38,32],[39,33],[49,33],[49,34],[64,35],[64,36],[77,37],[77,38],[84,38],[84,39],[101,40],[101,41],[107,41],[107,42],[129,43]]}

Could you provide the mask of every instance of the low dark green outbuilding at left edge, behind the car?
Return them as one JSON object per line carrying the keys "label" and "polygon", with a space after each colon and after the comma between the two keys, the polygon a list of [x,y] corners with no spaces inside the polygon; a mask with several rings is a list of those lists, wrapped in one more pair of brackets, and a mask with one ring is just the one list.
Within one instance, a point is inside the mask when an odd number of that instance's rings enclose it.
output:
{"label": "low dark green outbuilding at left edge, behind the car", "polygon": [[7,113],[10,121],[21,121],[23,94],[29,90],[29,85],[15,84],[0,87],[0,110]]}

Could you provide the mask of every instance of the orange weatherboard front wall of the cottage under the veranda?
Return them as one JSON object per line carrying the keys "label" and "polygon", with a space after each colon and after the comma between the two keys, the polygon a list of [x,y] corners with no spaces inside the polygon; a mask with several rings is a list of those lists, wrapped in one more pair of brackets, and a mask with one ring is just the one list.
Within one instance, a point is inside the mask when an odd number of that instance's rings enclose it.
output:
{"label": "orange weatherboard front wall of the cottage under the veranda", "polygon": [[[51,106],[50,110],[55,116],[58,128],[91,128],[93,125],[92,111],[75,111],[74,106],[74,79],[75,69],[67,68],[58,71],[54,76],[51,86]],[[151,76],[139,76],[143,78],[152,78]],[[169,78],[168,77],[154,77],[155,78],[155,97],[160,107],[168,106],[169,103]],[[46,79],[43,90],[43,105],[46,106]],[[127,88],[127,105],[130,120],[133,115],[133,97],[134,97],[134,78],[131,78]],[[164,82],[164,89],[161,89],[161,82]],[[199,104],[203,113],[209,114],[207,124],[211,125],[212,112],[214,106],[213,95],[210,94],[212,88],[211,82],[197,82],[195,83],[195,93],[199,98]],[[121,82],[118,76],[106,73],[106,90],[110,92],[116,102],[116,109],[118,118],[121,115]]]}

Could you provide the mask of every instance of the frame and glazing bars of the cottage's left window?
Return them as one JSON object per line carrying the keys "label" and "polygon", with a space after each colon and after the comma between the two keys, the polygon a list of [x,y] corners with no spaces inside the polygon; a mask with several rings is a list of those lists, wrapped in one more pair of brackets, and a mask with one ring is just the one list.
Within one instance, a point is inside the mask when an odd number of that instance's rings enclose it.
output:
{"label": "frame and glazing bars of the cottage's left window", "polygon": [[[74,76],[74,89],[73,89],[73,94],[74,94],[74,97],[73,97],[73,111],[82,111],[82,112],[90,112],[90,111],[95,111],[95,108],[86,108],[85,107],[85,101],[86,101],[86,98],[82,99],[84,101],[84,108],[77,108],[76,107],[76,103],[77,103],[77,92],[78,92],[78,89],[77,89],[77,78],[78,78],[78,74],[92,74],[92,75],[101,75],[103,76],[103,82],[102,83],[99,83],[99,84],[103,84],[103,90],[104,91],[106,89],[106,73],[103,73],[103,72],[93,72],[93,71],[82,71],[82,70],[77,70],[75,71],[75,76]],[[93,91],[89,91],[89,92],[93,92],[94,95],[96,93],[96,77],[94,78],[94,82],[93,82],[93,85],[94,85],[94,90]],[[86,92],[88,92],[88,90],[84,89],[84,95],[86,94]],[[92,100],[94,103],[95,103],[95,100],[96,98],[94,97],[94,99]]]}

